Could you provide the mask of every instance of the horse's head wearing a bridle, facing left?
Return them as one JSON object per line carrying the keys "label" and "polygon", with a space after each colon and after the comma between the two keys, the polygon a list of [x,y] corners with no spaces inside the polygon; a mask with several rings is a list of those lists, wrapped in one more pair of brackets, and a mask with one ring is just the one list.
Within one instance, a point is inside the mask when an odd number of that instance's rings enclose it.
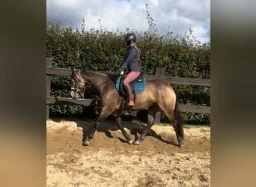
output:
{"label": "horse's head wearing a bridle, facing left", "polygon": [[78,99],[84,96],[85,80],[82,78],[81,70],[73,70],[71,74],[71,92],[73,99]]}

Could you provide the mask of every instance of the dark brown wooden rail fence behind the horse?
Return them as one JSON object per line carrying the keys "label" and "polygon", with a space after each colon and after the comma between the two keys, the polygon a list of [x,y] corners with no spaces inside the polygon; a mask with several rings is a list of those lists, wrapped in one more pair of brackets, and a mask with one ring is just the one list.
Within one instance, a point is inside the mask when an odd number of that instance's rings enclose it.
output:
{"label": "dark brown wooden rail fence behind the horse", "polygon": [[[71,69],[51,67],[52,61],[46,58],[46,119],[49,119],[49,105],[84,105],[88,106],[95,102],[94,99],[72,99],[71,97],[50,96],[51,92],[51,75],[71,76]],[[192,79],[192,78],[177,78],[166,77],[165,69],[156,67],[155,75],[144,75],[147,80],[162,79],[165,82],[180,85],[201,85],[210,87],[210,79]],[[210,107],[201,105],[179,105],[180,111],[196,112],[210,114]],[[155,123],[160,122],[161,113],[156,114]]]}

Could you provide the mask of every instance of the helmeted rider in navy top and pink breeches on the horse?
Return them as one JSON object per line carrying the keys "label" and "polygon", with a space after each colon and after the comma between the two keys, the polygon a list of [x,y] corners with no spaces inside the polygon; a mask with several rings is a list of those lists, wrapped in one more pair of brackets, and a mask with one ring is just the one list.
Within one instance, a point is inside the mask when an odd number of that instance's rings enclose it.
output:
{"label": "helmeted rider in navy top and pink breeches on the horse", "polygon": [[132,88],[129,85],[130,82],[134,81],[138,78],[141,73],[141,68],[138,65],[138,59],[140,56],[140,52],[138,50],[138,46],[136,44],[136,36],[133,33],[129,33],[125,37],[125,43],[127,46],[127,52],[124,56],[124,62],[121,67],[115,72],[115,75],[118,75],[125,68],[128,69],[128,74],[124,79],[124,88],[127,91],[127,100],[129,106],[135,105],[132,100]]}

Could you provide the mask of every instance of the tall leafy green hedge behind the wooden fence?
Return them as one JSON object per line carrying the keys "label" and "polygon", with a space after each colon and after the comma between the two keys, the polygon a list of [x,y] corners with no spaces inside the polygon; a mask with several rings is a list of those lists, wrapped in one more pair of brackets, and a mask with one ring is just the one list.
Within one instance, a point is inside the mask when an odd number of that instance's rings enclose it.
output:
{"label": "tall leafy green hedge behind the wooden fence", "polygon": [[[139,64],[144,74],[155,73],[156,67],[165,68],[165,76],[210,79],[210,42],[201,43],[189,34],[183,37],[168,32],[156,34],[153,19],[147,17],[148,31],[133,31],[138,37],[141,50]],[[125,54],[124,36],[131,32],[106,31],[102,28],[85,31],[63,28],[60,24],[48,23],[46,28],[46,54],[54,62],[53,67],[75,67],[85,70],[115,72],[123,62]],[[172,85],[179,96],[180,104],[210,106],[210,88],[204,86]],[[52,76],[52,96],[70,96],[70,77]],[[85,98],[92,98],[92,90]],[[51,105],[50,116],[95,117],[92,108],[70,105]],[[99,109],[95,111],[99,113]],[[94,112],[94,113],[95,113]],[[187,123],[210,123],[210,114],[184,113]]]}

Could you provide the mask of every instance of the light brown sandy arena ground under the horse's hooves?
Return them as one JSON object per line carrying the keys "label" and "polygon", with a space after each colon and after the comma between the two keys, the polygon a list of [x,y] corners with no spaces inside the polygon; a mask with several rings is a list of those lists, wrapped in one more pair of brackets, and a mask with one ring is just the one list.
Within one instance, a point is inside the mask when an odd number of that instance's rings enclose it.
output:
{"label": "light brown sandy arena ground under the horse's hooves", "polygon": [[[93,122],[47,120],[46,183],[52,186],[210,186],[210,127],[185,128],[183,147],[171,126],[154,125],[129,145],[114,123],[102,123],[88,146]],[[124,123],[132,138],[144,125]]]}

